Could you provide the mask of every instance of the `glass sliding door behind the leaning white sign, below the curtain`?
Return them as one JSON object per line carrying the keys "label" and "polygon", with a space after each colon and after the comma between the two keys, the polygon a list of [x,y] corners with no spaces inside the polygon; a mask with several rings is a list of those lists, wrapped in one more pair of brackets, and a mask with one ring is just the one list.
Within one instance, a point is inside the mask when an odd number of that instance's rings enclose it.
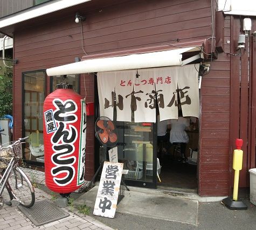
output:
{"label": "glass sliding door behind the leaning white sign, below the curtain", "polygon": [[119,162],[124,163],[129,185],[156,188],[156,138],[154,123],[115,121]]}

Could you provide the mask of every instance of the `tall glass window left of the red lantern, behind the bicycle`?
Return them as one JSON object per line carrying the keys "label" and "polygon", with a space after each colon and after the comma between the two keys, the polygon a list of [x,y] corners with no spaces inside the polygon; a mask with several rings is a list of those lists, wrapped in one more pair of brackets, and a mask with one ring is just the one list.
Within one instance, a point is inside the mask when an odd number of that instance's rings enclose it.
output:
{"label": "tall glass window left of the red lantern, behind the bicycle", "polygon": [[43,105],[45,71],[23,73],[23,136],[29,136],[24,148],[26,163],[43,166]]}

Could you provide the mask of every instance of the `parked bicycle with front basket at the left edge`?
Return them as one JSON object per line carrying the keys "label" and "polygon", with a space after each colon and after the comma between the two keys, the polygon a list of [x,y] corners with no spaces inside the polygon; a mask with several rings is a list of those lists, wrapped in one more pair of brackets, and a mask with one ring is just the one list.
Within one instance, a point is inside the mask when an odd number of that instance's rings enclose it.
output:
{"label": "parked bicycle with front basket at the left edge", "polygon": [[4,189],[10,197],[10,202],[6,203],[8,205],[20,204],[24,207],[32,207],[35,202],[33,185],[18,165],[19,160],[22,159],[22,143],[27,138],[29,137],[19,138],[0,147],[0,209],[4,204],[2,197]]}

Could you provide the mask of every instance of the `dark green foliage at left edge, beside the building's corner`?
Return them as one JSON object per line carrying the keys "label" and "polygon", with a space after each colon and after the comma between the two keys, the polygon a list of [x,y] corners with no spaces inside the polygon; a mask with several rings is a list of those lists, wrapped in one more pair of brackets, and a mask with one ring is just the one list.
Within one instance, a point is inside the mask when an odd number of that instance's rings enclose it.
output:
{"label": "dark green foliage at left edge, beside the building's corner", "polygon": [[12,114],[12,69],[0,67],[0,117]]}

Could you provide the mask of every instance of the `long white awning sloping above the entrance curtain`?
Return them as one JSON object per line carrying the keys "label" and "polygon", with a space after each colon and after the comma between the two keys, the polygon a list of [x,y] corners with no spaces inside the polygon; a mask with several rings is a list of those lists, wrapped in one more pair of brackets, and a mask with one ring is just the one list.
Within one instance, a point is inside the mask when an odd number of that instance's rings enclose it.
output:
{"label": "long white awning sloping above the entrance curtain", "polygon": [[46,69],[48,76],[83,74],[124,69],[142,69],[164,66],[182,66],[182,53],[200,51],[200,47],[172,49],[170,51],[89,59]]}

